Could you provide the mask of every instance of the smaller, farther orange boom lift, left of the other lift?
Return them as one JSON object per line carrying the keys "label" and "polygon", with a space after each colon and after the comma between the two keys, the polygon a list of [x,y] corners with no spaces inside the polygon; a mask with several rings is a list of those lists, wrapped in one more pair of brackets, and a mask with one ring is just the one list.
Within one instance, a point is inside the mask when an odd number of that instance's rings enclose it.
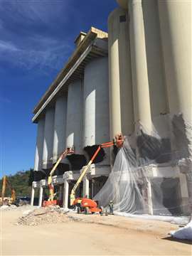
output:
{"label": "smaller, farther orange boom lift, left of the other lift", "polygon": [[58,201],[58,199],[54,199],[56,196],[56,193],[54,193],[54,186],[53,186],[53,174],[55,172],[55,170],[57,169],[58,165],[60,164],[60,161],[62,159],[64,159],[66,156],[68,156],[69,154],[73,154],[74,150],[73,148],[67,148],[65,149],[65,151],[63,151],[63,153],[60,155],[58,161],[55,163],[55,165],[53,166],[53,169],[50,171],[50,174],[48,176],[48,188],[49,188],[49,196],[48,196],[48,201],[43,201],[43,207],[46,206],[56,206],[56,205],[60,205],[61,202]]}

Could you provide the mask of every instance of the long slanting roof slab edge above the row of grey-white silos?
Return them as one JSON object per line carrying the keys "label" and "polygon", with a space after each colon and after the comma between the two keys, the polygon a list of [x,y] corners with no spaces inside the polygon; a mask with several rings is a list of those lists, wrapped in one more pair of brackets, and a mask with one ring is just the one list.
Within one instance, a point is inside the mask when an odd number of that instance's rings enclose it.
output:
{"label": "long slanting roof slab edge above the row of grey-white silos", "polygon": [[36,107],[33,110],[33,114],[36,114],[38,110],[43,106],[43,102],[45,102],[50,94],[55,90],[55,88],[59,85],[59,83],[63,80],[65,75],[68,73],[70,68],[73,67],[74,63],[78,60],[80,55],[85,51],[85,49],[90,45],[90,42],[94,41],[95,38],[101,38],[105,39],[108,38],[108,34],[104,31],[100,31],[100,29],[91,27],[90,31],[86,34],[85,38],[83,38],[82,42],[80,45],[75,49],[73,55],[70,56],[68,59],[68,62],[65,64],[65,67],[60,70],[60,73],[58,73],[57,77],[55,80],[52,82],[50,87],[48,87],[48,90],[45,92],[43,97],[41,97],[41,100],[38,102]]}

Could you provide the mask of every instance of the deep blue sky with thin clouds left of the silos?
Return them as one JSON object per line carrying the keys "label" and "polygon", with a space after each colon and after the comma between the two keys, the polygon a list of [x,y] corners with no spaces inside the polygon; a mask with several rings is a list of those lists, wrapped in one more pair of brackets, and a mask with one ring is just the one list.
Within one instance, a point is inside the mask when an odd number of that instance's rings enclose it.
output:
{"label": "deep blue sky with thin clouds left of the silos", "polygon": [[0,0],[0,176],[33,168],[32,110],[90,26],[107,31],[115,0]]}

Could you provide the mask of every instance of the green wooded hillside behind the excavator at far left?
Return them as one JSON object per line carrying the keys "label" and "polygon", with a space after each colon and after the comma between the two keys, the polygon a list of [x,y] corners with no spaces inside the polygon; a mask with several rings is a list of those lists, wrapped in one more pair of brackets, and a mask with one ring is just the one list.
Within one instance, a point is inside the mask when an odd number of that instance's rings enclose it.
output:
{"label": "green wooded hillside behind the excavator at far left", "polygon": [[[28,171],[18,171],[14,175],[7,176],[12,188],[16,191],[16,196],[31,196],[31,183],[33,182],[33,169]],[[0,179],[0,195],[2,191],[3,178]],[[11,190],[6,186],[5,196],[11,196]]]}

